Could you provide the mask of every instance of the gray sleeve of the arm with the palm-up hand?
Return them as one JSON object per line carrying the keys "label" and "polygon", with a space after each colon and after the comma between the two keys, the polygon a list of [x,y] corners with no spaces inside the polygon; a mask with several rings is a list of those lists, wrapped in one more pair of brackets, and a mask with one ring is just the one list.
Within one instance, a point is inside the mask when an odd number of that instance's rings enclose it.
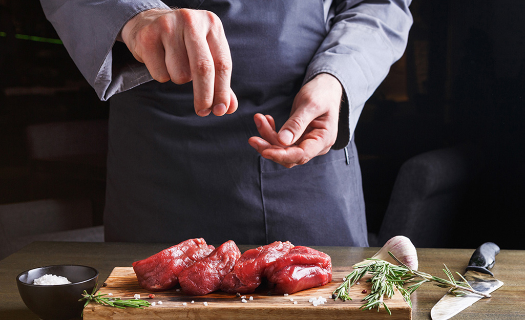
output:
{"label": "gray sleeve of the arm with the palm-up hand", "polygon": [[410,3],[411,0],[335,1],[331,28],[304,80],[330,73],[343,87],[334,149],[348,145],[364,103],[403,55],[413,23]]}

